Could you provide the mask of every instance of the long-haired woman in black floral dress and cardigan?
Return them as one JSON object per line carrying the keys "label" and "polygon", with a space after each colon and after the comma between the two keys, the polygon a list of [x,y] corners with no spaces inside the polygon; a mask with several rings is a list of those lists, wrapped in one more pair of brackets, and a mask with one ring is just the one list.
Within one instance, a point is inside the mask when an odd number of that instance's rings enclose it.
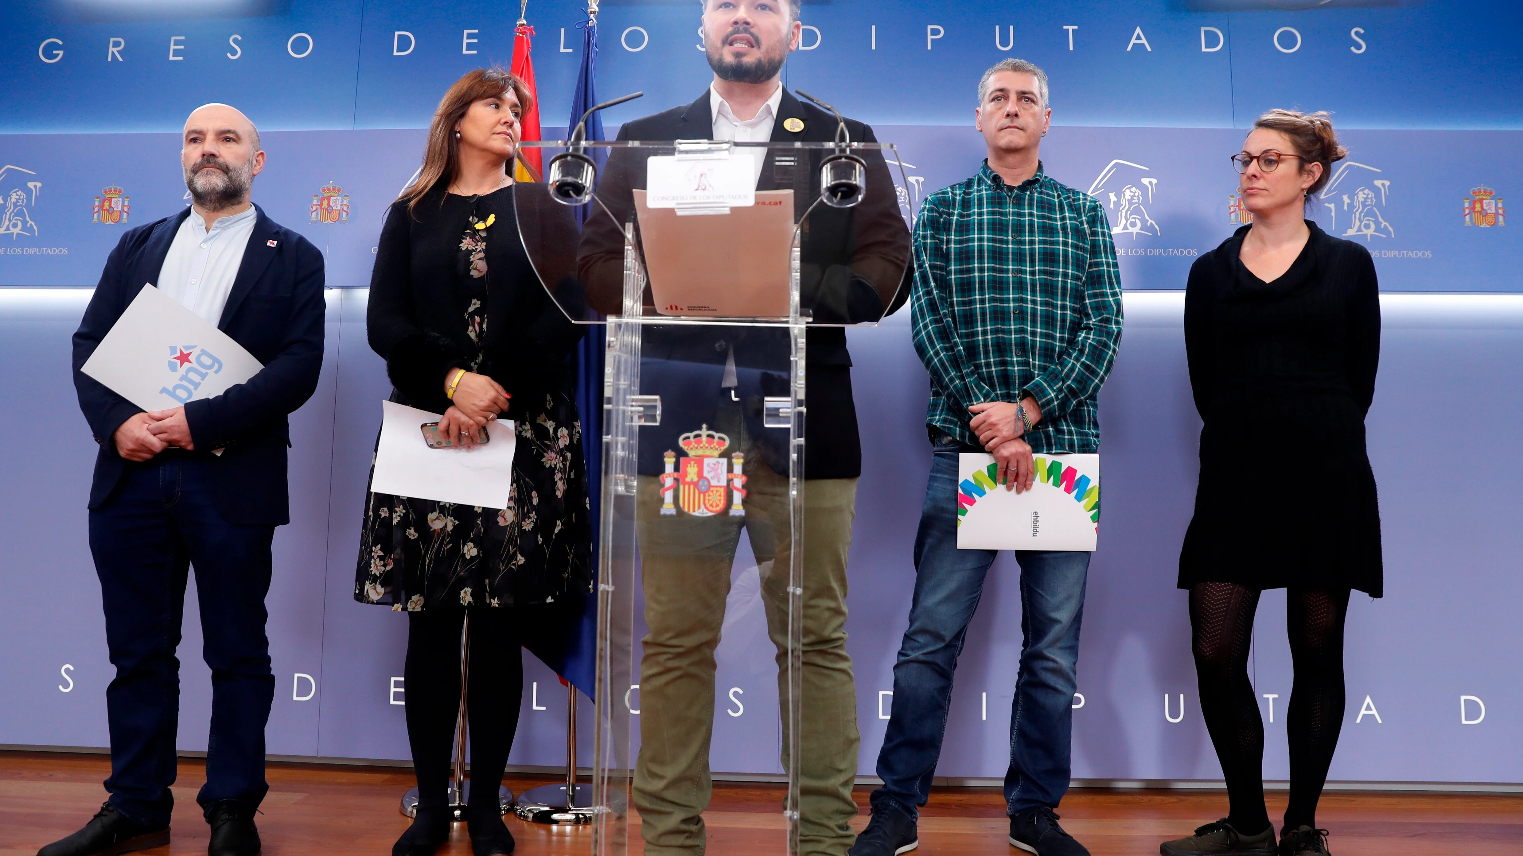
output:
{"label": "long-haired woman in black floral dress and cardigan", "polygon": [[509,507],[366,500],[355,600],[408,614],[419,809],[394,856],[428,856],[449,838],[468,614],[471,845],[477,856],[513,850],[496,794],[518,723],[524,628],[556,621],[550,605],[591,589],[582,426],[567,370],[582,331],[541,286],[513,216],[512,157],[528,104],[522,82],[500,69],[449,88],[423,168],[387,213],[370,280],[366,326],[385,358],[391,401],[442,413],[440,433],[455,445],[500,416],[516,423]]}

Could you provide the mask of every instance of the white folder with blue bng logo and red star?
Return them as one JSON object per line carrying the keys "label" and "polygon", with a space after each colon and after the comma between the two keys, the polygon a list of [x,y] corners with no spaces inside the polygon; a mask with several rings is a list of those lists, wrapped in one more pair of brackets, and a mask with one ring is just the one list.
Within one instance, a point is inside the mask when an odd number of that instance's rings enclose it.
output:
{"label": "white folder with blue bng logo and red star", "polygon": [[219,396],[265,366],[178,300],[143,285],[81,367],[143,410]]}

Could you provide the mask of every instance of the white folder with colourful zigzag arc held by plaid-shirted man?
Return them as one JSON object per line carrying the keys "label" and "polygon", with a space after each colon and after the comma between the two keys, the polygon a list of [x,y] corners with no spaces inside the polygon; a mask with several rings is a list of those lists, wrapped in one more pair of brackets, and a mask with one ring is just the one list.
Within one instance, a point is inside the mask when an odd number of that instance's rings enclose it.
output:
{"label": "white folder with colourful zigzag arc held by plaid-shirted man", "polygon": [[998,484],[995,455],[958,460],[958,550],[1075,550],[1092,553],[1100,532],[1100,455],[1036,455],[1022,493]]}

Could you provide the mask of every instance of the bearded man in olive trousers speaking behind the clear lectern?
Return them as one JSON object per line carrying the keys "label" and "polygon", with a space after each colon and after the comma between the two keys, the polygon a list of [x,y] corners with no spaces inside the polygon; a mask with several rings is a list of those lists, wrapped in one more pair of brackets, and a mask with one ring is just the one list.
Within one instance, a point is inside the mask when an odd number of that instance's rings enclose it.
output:
{"label": "bearded man in olive trousers speaking behind the clear lectern", "polygon": [[[838,119],[781,85],[781,69],[800,43],[798,0],[705,0],[704,49],[713,84],[694,102],[623,125],[620,140],[830,142]],[[871,128],[845,120],[853,142],[876,142]],[[909,230],[894,181],[879,152],[867,161],[867,187],[851,209],[816,206],[801,247],[800,303],[816,324],[876,321],[903,302]],[[793,189],[795,216],[819,198],[822,152],[769,152],[757,190]],[[632,189],[644,187],[644,155],[614,149],[579,251],[588,302],[618,314],[623,300],[623,230]],[[597,209],[597,206],[594,206]],[[743,235],[736,236],[745,241]],[[722,270],[725,248],[714,248]],[[716,282],[716,286],[722,283]],[[897,297],[896,297],[897,295]],[[650,291],[644,295],[652,306]],[[649,634],[640,664],[640,759],[634,801],[647,854],[699,854],[711,780],[714,647],[725,618],[740,530],[755,554],[768,631],[778,650],[783,720],[787,722],[787,472],[786,428],[763,423],[763,398],[787,394],[789,334],[781,327],[646,326],[641,393],[663,398],[659,426],[641,430],[637,529]],[[862,471],[851,356],[841,326],[806,335],[803,714],[800,717],[801,853],[844,856],[856,816],[856,688],[845,649],[847,550]],[[685,431],[694,433],[691,437]],[[699,436],[701,434],[701,436]],[[745,454],[743,516],[696,516],[670,507],[664,460],[679,436],[720,443],[723,458]],[[666,495],[663,492],[666,490]],[[664,507],[666,506],[666,507]],[[774,524],[774,521],[777,521]],[[787,728],[783,759],[787,763]]]}

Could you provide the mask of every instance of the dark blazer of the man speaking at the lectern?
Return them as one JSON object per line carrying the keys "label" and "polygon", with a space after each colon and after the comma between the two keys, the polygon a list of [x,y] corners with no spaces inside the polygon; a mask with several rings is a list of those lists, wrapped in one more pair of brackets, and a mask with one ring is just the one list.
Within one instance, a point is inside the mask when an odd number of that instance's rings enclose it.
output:
{"label": "dark blazer of the man speaking at the lectern", "polygon": [[[789,131],[787,120],[804,123]],[[847,119],[851,140],[876,142],[873,129]],[[710,91],[698,101],[635,119],[620,128],[620,140],[707,140],[713,137]],[[798,101],[787,88],[772,125],[772,142],[830,142],[836,117]],[[819,206],[809,215],[801,248],[800,302],[818,321],[851,323],[877,318],[903,305],[909,294],[905,274],[909,260],[909,227],[899,212],[894,180],[883,157],[864,155],[868,192],[854,209]],[[804,209],[819,195],[819,154],[800,164],[778,163],[768,152],[758,190],[795,189],[795,206]],[[800,178],[803,178],[800,181]],[[634,187],[644,186],[643,163],[614,149],[597,195],[615,218],[634,210]],[[588,303],[615,314],[623,300],[623,235],[608,216],[592,216],[582,239],[580,273]],[[646,292],[650,302],[650,292]],[[676,326],[649,329],[641,350],[641,391],[663,394],[661,425],[644,430],[640,442],[640,472],[663,469],[661,455],[676,436],[714,423],[719,385],[731,346],[736,353],[737,393],[745,402],[748,433],[774,469],[787,472],[787,431],[762,426],[762,398],[784,394],[787,387],[787,332],[777,327]],[[781,363],[778,363],[781,356]],[[862,472],[856,405],[851,399],[851,355],[842,327],[810,327],[806,337],[809,419],[804,423],[807,478],[854,478]],[[774,388],[775,387],[775,388]],[[678,390],[685,388],[685,393]]]}

